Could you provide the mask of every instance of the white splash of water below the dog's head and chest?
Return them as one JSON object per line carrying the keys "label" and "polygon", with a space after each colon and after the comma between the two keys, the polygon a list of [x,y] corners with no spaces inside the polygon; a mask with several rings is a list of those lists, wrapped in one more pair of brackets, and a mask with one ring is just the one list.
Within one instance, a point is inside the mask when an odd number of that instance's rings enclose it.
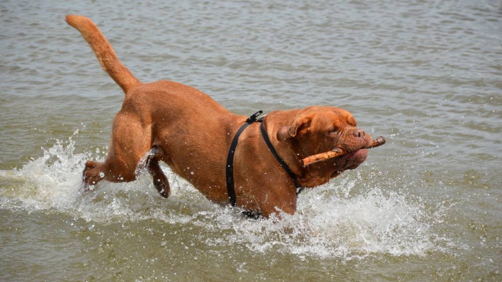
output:
{"label": "white splash of water below the dog's head and chest", "polygon": [[[332,196],[341,189],[325,185],[299,200],[298,213],[281,214],[275,219],[251,221],[231,219],[220,213],[206,228],[231,230],[225,240],[209,239],[208,244],[244,244],[256,252],[277,250],[300,256],[361,258],[372,253],[425,255],[437,249],[420,204],[408,203],[404,196],[380,189],[350,199]],[[205,213],[204,213],[205,214]]]}

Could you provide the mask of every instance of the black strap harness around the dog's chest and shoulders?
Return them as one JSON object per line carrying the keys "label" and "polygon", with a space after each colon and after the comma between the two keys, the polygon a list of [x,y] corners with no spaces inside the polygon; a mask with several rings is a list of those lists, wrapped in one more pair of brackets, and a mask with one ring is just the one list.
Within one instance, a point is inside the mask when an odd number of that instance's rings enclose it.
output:
{"label": "black strap harness around the dog's chest and shoulders", "polygon": [[232,144],[230,145],[230,150],[228,151],[228,157],[226,159],[226,189],[228,192],[228,199],[230,200],[230,204],[232,207],[235,207],[237,205],[237,199],[235,198],[235,187],[233,183],[233,155],[235,154],[235,148],[237,147],[237,143],[239,140],[240,134],[246,129],[247,126],[254,122],[260,122],[260,131],[262,132],[263,139],[265,140],[265,143],[269,147],[270,152],[276,160],[281,164],[281,166],[284,168],[284,170],[289,174],[291,177],[291,180],[293,180],[293,183],[295,184],[296,189],[299,188],[298,192],[296,192],[296,195],[300,194],[305,187],[302,187],[301,185],[298,184],[298,181],[296,180],[296,175],[289,169],[288,165],[279,157],[279,155],[276,152],[276,149],[274,146],[272,146],[272,143],[270,143],[269,135],[265,131],[265,128],[263,127],[263,117],[260,119],[257,119],[259,115],[262,114],[263,111],[258,111],[249,118],[247,118],[246,122],[240,126],[239,130],[237,130],[237,133],[235,133],[235,136],[233,137]]}

